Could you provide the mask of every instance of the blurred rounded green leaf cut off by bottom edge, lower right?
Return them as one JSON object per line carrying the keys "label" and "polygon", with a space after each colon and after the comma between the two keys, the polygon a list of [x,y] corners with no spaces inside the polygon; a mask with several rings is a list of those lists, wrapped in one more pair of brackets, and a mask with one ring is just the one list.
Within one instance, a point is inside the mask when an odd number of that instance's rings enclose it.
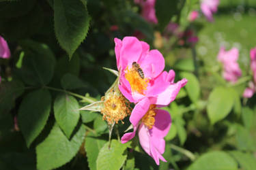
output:
{"label": "blurred rounded green leaf cut off by bottom edge, lower right", "polygon": [[208,152],[197,158],[195,162],[188,167],[188,170],[236,170],[238,163],[227,153],[222,151]]}

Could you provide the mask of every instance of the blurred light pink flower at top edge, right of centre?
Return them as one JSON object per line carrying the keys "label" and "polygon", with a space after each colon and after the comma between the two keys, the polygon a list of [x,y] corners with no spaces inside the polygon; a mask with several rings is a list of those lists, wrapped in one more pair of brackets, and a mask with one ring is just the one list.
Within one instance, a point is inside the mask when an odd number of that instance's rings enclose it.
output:
{"label": "blurred light pink flower at top edge, right of centre", "polygon": [[205,17],[212,22],[214,19],[212,14],[218,10],[219,0],[202,0],[201,1],[201,11]]}

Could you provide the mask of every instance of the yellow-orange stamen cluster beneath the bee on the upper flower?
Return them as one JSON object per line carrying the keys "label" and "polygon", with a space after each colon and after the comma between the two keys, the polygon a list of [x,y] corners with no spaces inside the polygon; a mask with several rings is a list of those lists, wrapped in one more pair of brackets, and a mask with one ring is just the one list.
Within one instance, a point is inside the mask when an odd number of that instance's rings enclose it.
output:
{"label": "yellow-orange stamen cluster beneath the bee on the upper flower", "polygon": [[147,78],[141,78],[141,76],[139,76],[139,73],[134,69],[128,69],[128,67],[126,67],[125,71],[125,78],[130,83],[132,91],[136,91],[139,92],[141,95],[145,95],[144,91],[147,90],[147,84],[149,80]]}

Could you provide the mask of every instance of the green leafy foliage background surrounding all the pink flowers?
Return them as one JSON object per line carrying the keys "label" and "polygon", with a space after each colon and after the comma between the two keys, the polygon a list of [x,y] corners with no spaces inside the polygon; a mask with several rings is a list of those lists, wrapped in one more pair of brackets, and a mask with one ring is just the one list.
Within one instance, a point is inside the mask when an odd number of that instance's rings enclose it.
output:
{"label": "green leafy foliage background surrounding all the pink flowers", "polygon": [[[0,35],[12,52],[0,58],[0,169],[255,169],[256,95],[246,100],[242,93],[256,46],[256,2],[222,0],[213,23],[203,16],[188,22],[192,10],[198,0],[157,0],[154,25],[132,0],[0,0]],[[128,118],[115,126],[109,149],[102,115],[79,108],[100,100],[115,80],[102,69],[116,69],[114,37],[140,31],[158,48],[154,33],[170,20],[194,29],[199,42],[158,49],[165,69],[188,79],[165,107],[173,122],[167,163],[158,167],[137,137],[119,142]],[[240,50],[237,84],[221,77],[220,45]]]}

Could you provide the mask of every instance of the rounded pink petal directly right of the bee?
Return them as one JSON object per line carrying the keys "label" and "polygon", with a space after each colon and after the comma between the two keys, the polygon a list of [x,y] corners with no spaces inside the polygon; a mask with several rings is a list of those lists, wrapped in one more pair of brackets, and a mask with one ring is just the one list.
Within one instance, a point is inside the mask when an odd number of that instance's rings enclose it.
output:
{"label": "rounded pink petal directly right of the bee", "polygon": [[165,58],[158,50],[150,50],[140,65],[146,78],[156,78],[165,68]]}

